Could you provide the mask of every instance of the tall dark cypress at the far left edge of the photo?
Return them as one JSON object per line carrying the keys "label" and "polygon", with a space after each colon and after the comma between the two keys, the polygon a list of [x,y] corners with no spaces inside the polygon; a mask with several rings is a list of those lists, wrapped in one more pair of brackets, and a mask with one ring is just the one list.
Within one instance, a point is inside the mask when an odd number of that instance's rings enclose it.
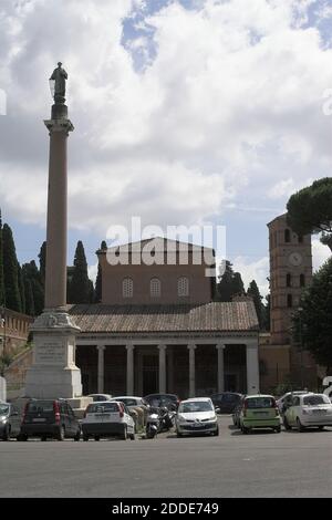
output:
{"label": "tall dark cypress at the far left edge of the photo", "polygon": [[15,245],[10,227],[4,223],[3,239],[3,275],[6,305],[12,311],[21,312],[21,298],[19,289],[19,273]]}

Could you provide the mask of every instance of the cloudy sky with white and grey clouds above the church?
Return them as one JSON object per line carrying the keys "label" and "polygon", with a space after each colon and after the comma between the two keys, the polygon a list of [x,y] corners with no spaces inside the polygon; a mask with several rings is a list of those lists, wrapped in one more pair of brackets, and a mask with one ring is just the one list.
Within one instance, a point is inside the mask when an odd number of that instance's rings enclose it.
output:
{"label": "cloudy sky with white and grey clouds above the church", "polygon": [[[332,0],[0,0],[0,206],[20,261],[45,238],[42,119],[60,60],[70,261],[83,240],[93,273],[132,216],[220,225],[227,258],[266,292],[267,222],[332,171],[331,28]],[[329,251],[313,246],[317,267]]]}

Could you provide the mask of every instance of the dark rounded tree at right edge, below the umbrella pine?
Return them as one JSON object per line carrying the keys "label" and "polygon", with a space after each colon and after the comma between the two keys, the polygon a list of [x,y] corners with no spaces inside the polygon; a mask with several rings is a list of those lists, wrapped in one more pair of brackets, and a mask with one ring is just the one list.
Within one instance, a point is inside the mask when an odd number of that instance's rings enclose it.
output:
{"label": "dark rounded tree at right edge, below the umbrella pine", "polygon": [[293,339],[317,363],[332,370],[332,258],[312,277],[293,316]]}

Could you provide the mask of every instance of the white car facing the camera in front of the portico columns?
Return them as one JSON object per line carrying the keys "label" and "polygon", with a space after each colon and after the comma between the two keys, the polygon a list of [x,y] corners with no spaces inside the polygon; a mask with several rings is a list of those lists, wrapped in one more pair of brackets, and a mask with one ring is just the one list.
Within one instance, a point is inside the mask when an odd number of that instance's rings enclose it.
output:
{"label": "white car facing the camera in front of the portico columns", "polygon": [[216,409],[209,397],[181,401],[175,425],[177,437],[199,433],[219,435]]}

